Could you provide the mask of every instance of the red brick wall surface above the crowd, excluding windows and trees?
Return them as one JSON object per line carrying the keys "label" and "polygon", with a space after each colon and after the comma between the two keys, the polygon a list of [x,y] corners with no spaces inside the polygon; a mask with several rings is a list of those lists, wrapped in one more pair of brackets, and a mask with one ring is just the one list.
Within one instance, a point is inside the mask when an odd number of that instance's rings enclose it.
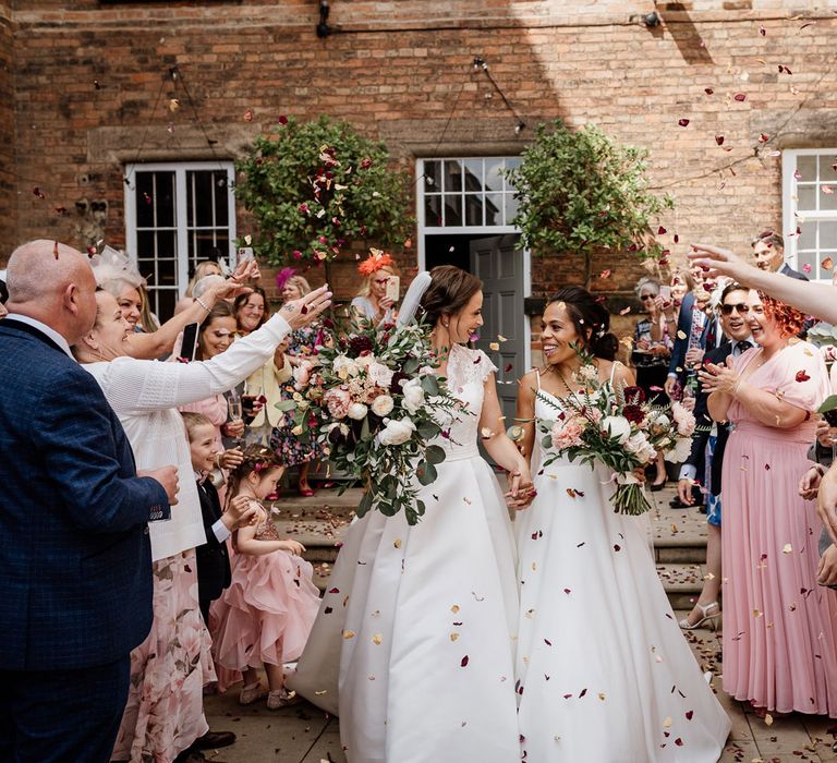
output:
{"label": "red brick wall surface above the crowd, excluding windows and trees", "polygon": [[[837,148],[837,20],[813,5],[810,17],[789,19],[804,13],[799,2],[659,3],[664,24],[650,29],[639,22],[646,2],[332,0],[329,21],[344,34],[326,40],[314,35],[311,0],[33,5],[19,2],[14,16],[16,168],[27,180],[15,189],[17,219],[0,256],[34,235],[74,240],[75,202],[90,197],[108,201],[107,239],[121,245],[125,161],[137,150],[141,160],[213,158],[168,78],[174,64],[225,158],[282,113],[349,120],[408,168],[416,156],[517,153],[538,121],[556,117],[596,122],[652,152],[652,183],[675,198],[660,237],[675,255],[690,241],[741,249],[754,230],[780,226],[780,159],[754,158],[761,133],[773,150]],[[521,135],[474,72],[476,55],[529,125]],[[733,99],[739,93],[745,100]],[[174,97],[182,106],[171,112]],[[0,106],[0,130],[2,114]],[[247,225],[242,216],[240,232]],[[414,264],[412,253],[402,264]],[[617,296],[641,272],[617,253],[595,258],[594,272],[605,268],[610,279],[593,286]],[[349,291],[351,269],[338,268]],[[535,293],[579,279],[575,257],[533,264]]]}

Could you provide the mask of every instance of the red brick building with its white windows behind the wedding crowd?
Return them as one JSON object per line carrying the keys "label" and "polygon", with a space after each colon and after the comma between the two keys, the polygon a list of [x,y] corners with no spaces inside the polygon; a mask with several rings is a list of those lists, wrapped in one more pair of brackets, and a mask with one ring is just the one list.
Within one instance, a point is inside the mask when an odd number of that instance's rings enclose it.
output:
{"label": "red brick building with its white windows behind the wedding crowd", "polygon": [[[830,276],[818,267],[837,253],[827,2],[329,4],[320,38],[318,0],[0,0],[0,262],[35,237],[104,239],[140,257],[163,308],[190,257],[226,255],[248,231],[231,161],[283,113],[384,140],[418,179],[404,266],[466,262],[471,240],[513,233],[498,157],[512,161],[534,125],[560,117],[652,152],[652,183],[675,199],[659,237],[675,254],[690,241],[744,250],[759,230],[799,226],[791,264]],[[580,278],[572,256],[497,262],[498,283],[526,295]],[[622,296],[640,272],[624,253],[599,265],[614,275],[594,288]]]}

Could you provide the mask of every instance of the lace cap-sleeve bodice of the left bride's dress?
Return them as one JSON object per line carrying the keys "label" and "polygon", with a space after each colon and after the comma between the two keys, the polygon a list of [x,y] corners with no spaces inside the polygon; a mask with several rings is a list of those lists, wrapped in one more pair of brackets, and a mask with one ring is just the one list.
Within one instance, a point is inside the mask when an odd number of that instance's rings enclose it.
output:
{"label": "lace cap-sleeve bodice of the left bride's dress", "polygon": [[482,350],[454,344],[448,358],[448,387],[464,408],[459,413],[444,414],[440,420],[447,436],[435,443],[448,453],[448,460],[478,456],[477,427],[485,397],[485,379],[497,371]]}

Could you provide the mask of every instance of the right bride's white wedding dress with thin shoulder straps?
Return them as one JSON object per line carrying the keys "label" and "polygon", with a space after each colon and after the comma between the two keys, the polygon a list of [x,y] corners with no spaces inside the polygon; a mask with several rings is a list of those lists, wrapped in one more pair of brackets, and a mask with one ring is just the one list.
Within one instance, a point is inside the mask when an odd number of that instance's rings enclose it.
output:
{"label": "right bride's white wedding dress with thin shoulder straps", "polygon": [[538,397],[535,417],[537,497],[515,521],[522,760],[715,763],[729,718],[657,578],[647,518],[614,513],[603,465],[539,465],[556,409]]}

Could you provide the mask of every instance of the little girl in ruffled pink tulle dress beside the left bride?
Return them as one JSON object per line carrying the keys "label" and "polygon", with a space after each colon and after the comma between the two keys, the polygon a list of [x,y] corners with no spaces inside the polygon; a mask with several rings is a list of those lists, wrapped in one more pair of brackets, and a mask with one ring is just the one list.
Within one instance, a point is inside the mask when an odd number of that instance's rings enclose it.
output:
{"label": "little girl in ruffled pink tulle dress beside the left bride", "polygon": [[[251,446],[230,474],[228,500],[247,496],[257,508],[255,524],[233,535],[232,582],[213,606],[213,651],[216,662],[244,674],[239,702],[251,704],[267,695],[277,710],[292,695],[284,688],[282,665],[295,661],[307,641],[319,608],[314,570],[300,557],[304,546],[277,533],[262,501],[277,489],[284,468],[275,453]],[[258,680],[264,665],[268,689]]]}

